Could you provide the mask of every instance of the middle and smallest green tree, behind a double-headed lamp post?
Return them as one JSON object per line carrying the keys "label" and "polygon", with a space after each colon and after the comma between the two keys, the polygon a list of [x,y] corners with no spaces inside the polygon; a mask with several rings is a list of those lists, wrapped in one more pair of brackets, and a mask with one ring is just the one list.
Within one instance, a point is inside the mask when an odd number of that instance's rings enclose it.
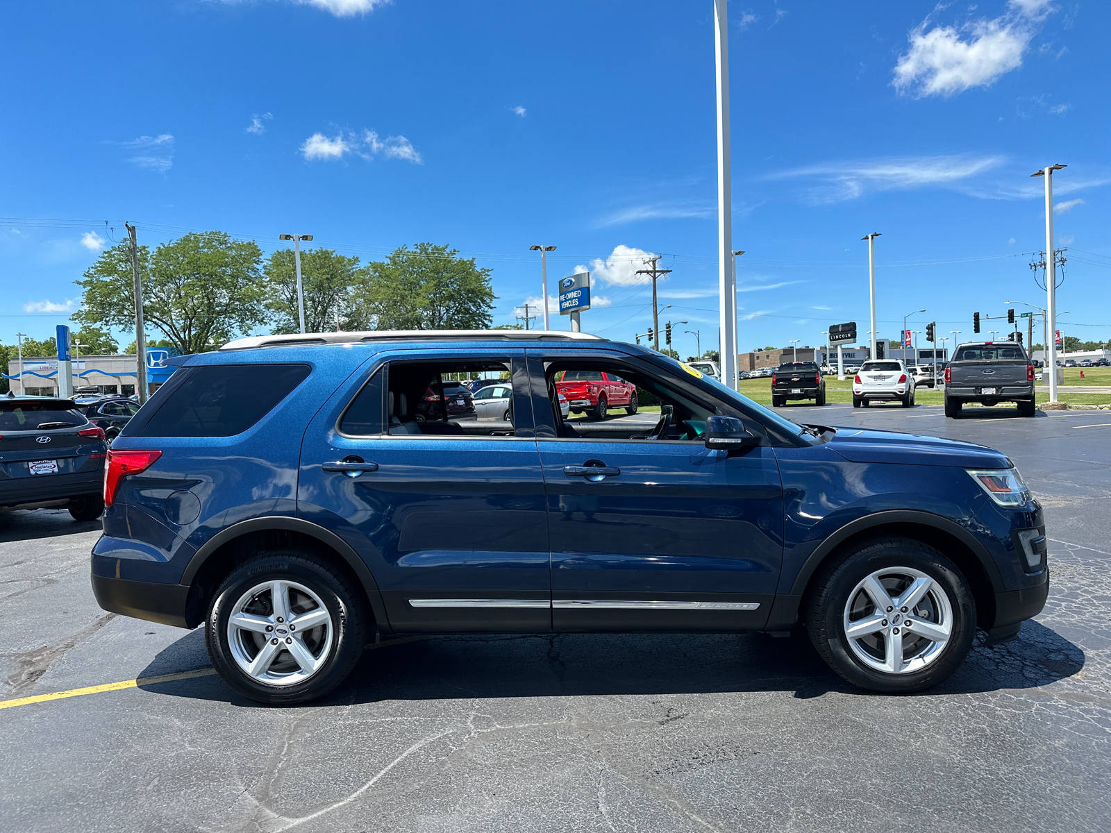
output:
{"label": "middle and smallest green tree, behind a double-headed lamp post", "polygon": [[[297,268],[293,252],[279,249],[262,268],[266,274],[266,305],[273,333],[300,332],[297,305]],[[301,290],[304,297],[306,332],[326,332],[340,327],[354,329],[352,299],[358,299],[366,283],[358,258],[346,258],[330,249],[301,252]]]}

